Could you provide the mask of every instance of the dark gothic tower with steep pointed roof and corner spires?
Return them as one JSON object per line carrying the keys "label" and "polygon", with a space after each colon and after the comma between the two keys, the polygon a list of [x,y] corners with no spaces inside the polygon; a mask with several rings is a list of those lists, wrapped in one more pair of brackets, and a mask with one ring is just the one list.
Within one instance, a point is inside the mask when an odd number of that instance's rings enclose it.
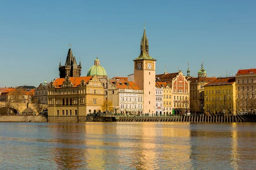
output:
{"label": "dark gothic tower with steep pointed roof and corner spires", "polygon": [[79,65],[76,63],[76,57],[73,57],[71,48],[68,50],[67,59],[65,65],[59,65],[60,78],[68,77],[80,77],[81,76],[81,62]]}

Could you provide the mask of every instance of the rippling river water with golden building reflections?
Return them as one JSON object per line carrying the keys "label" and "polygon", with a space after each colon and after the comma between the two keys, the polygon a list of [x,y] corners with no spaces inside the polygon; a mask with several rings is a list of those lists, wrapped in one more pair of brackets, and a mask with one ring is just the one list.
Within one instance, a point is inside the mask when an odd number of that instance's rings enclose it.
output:
{"label": "rippling river water with golden building reflections", "polygon": [[1,170],[255,168],[255,123],[0,123]]}

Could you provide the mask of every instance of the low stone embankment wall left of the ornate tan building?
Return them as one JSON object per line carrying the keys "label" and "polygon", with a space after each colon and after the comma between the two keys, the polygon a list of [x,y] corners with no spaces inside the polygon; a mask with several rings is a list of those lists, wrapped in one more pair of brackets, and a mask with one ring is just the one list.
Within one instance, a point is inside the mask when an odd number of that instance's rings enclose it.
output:
{"label": "low stone embankment wall left of the ornate tan building", "polygon": [[0,122],[47,122],[47,116],[0,116]]}

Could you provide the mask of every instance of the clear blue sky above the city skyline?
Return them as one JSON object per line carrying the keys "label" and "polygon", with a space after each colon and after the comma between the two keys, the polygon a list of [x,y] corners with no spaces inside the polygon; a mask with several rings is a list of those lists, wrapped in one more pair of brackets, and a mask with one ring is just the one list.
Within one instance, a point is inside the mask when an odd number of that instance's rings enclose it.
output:
{"label": "clear blue sky above the city skyline", "polygon": [[191,75],[204,60],[208,77],[256,67],[255,0],[3,0],[0,5],[0,87],[58,77],[68,44],[82,76],[96,55],[108,77],[133,73],[146,21],[156,73]]}

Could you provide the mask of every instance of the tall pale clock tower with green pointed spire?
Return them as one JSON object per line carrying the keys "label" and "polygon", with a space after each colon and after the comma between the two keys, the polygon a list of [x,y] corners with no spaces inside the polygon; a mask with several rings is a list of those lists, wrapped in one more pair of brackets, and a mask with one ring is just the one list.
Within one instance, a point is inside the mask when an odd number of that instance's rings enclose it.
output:
{"label": "tall pale clock tower with green pointed spire", "polygon": [[140,56],[134,59],[134,83],[143,90],[143,113],[155,113],[156,59],[148,54],[145,25],[140,42]]}

